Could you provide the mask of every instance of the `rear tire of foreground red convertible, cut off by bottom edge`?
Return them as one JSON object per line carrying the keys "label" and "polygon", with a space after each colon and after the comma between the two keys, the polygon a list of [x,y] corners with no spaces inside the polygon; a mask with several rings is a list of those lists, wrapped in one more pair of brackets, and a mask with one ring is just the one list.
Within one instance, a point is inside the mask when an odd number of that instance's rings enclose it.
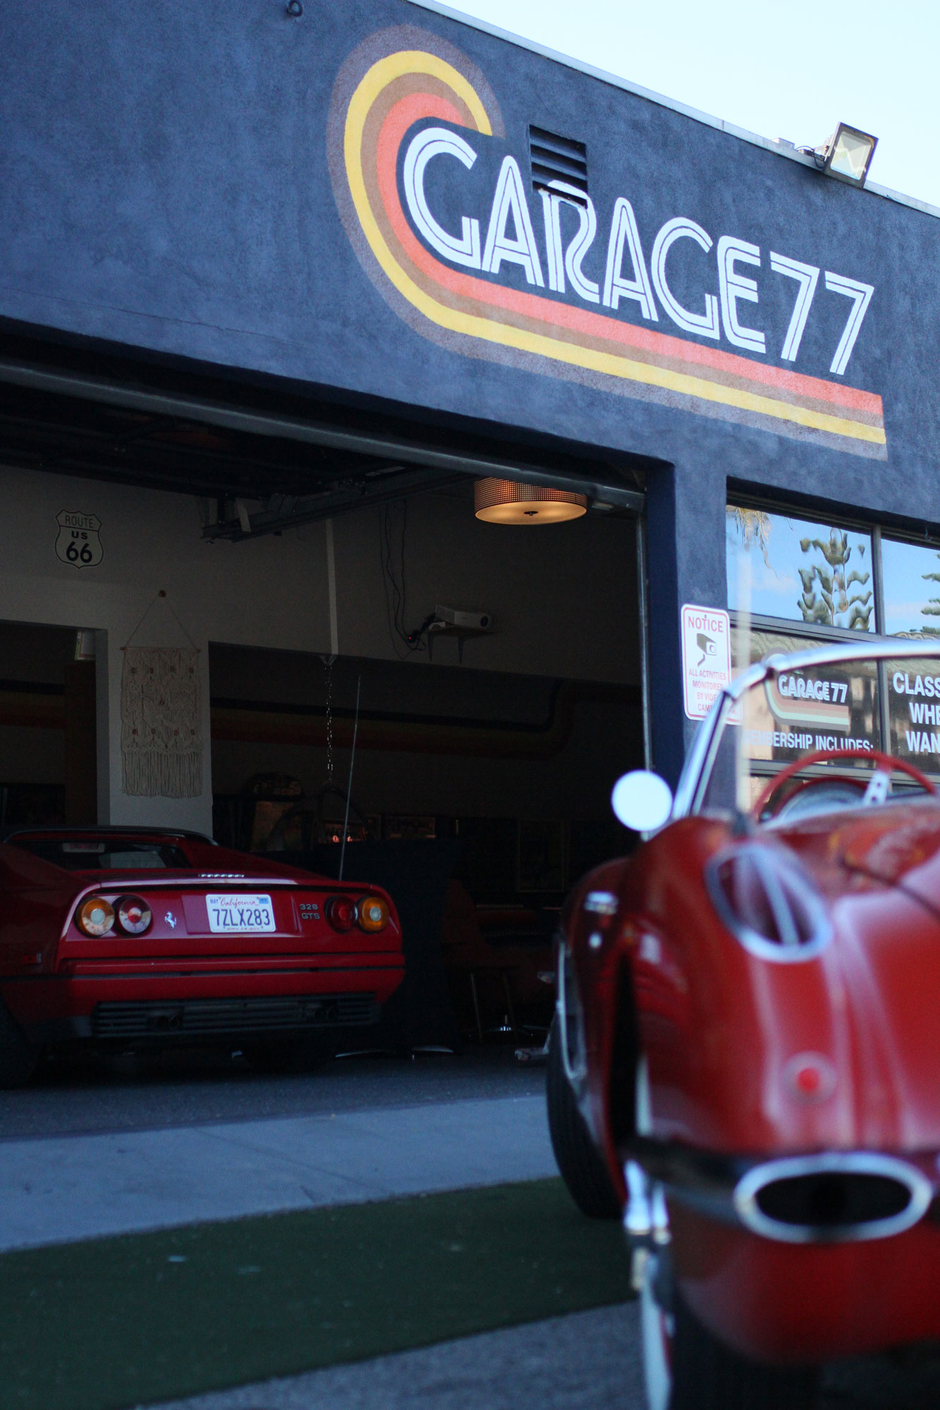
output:
{"label": "rear tire of foreground red convertible, cut off by bottom edge", "polygon": [[672,1313],[663,1313],[649,1280],[644,1282],[639,1317],[648,1410],[813,1410],[816,1366],[748,1361],[713,1337],[676,1290],[670,1300]]}

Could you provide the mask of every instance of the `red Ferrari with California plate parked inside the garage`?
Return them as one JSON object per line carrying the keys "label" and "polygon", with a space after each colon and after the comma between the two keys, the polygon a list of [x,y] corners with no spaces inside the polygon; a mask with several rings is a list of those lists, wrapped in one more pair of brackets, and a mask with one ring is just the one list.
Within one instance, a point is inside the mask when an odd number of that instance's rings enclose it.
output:
{"label": "red Ferrari with California plate parked inside the garage", "polygon": [[230,1043],[311,1065],[404,974],[377,887],[154,828],[34,828],[0,846],[0,1086],[42,1052]]}

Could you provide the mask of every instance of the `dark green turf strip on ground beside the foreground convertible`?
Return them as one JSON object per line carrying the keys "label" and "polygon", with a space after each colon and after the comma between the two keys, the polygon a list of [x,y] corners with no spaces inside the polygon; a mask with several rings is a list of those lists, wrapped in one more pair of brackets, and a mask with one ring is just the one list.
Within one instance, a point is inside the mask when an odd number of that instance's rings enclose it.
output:
{"label": "dark green turf strip on ground beside the foreground convertible", "polygon": [[0,1255],[0,1410],[117,1410],[629,1297],[560,1180]]}

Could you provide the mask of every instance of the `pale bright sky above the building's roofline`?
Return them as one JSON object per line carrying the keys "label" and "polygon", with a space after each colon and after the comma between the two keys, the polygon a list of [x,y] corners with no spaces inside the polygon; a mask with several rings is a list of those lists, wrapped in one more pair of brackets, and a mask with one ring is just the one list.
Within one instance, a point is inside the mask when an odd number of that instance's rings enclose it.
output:
{"label": "pale bright sky above the building's roofline", "polygon": [[[452,8],[761,137],[878,138],[869,179],[940,206],[937,0],[463,0]],[[933,155],[932,155],[933,154]]]}

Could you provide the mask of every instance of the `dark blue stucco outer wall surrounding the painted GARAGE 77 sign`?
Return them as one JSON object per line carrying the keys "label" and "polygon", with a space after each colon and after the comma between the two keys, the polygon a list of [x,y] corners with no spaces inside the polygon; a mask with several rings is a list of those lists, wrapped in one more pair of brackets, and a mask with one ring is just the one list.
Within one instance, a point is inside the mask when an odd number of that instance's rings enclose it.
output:
{"label": "dark blue stucco outer wall surrounding the painted GARAGE 77 sign", "polygon": [[[586,142],[603,226],[584,261],[591,278],[603,279],[617,196],[635,209],[646,258],[673,216],[716,243],[751,241],[762,266],[744,272],[759,278],[761,305],[740,309],[766,330],[755,361],[776,367],[795,288],[769,276],[771,250],[874,285],[841,382],[884,399],[886,460],[469,357],[402,321],[350,245],[326,152],[337,72],[390,25],[449,41],[491,86],[505,141],[490,140],[480,190],[505,152],[528,183],[529,124]],[[653,732],[670,773],[683,737],[677,606],[725,601],[730,478],[940,520],[937,220],[525,48],[406,0],[305,0],[299,20],[284,0],[6,0],[0,134],[1,319],[672,465],[649,488]],[[442,189],[442,212],[459,214],[473,189]],[[529,206],[539,228],[532,192]],[[486,228],[488,210],[477,213]],[[692,247],[676,257],[689,305],[717,290],[709,258]],[[500,281],[526,288],[518,266]],[[847,309],[820,278],[797,372],[834,381]],[[621,316],[642,321],[635,303]],[[677,331],[662,312],[658,329]]]}

